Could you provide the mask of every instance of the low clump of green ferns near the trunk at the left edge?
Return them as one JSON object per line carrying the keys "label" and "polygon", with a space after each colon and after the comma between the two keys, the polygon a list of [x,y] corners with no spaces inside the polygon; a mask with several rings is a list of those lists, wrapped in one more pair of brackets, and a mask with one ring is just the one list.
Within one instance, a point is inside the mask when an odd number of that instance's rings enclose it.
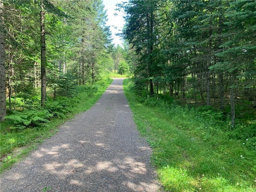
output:
{"label": "low clump of green ferns near the trunk at the left edge", "polygon": [[23,129],[42,126],[44,123],[48,122],[48,119],[52,116],[53,114],[48,110],[24,110],[22,112],[14,111],[12,115],[8,115],[5,118],[14,122],[15,127],[11,127],[12,129]]}

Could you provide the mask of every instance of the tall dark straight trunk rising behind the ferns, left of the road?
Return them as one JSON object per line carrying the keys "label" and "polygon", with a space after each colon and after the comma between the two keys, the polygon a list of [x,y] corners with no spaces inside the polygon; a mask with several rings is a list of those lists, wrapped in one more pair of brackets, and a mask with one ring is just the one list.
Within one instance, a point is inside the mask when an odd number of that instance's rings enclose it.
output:
{"label": "tall dark straight trunk rising behind the ferns, left of the road", "polygon": [[45,21],[44,3],[41,0],[40,26],[41,26],[41,106],[46,101],[46,56],[45,56]]}

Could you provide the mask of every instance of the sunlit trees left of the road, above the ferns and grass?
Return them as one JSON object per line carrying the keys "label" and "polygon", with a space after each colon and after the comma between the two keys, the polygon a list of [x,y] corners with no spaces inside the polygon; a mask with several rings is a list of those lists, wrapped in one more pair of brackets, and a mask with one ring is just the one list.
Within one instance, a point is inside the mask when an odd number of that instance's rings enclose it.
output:
{"label": "sunlit trees left of the road, above the ferns and grass", "polygon": [[[38,100],[44,107],[47,97],[70,96],[74,86],[93,84],[102,70],[118,71],[125,61],[118,56],[123,48],[111,44],[102,0],[3,0],[0,5],[1,120],[6,109],[32,109]],[[127,70],[126,64],[121,72]]]}

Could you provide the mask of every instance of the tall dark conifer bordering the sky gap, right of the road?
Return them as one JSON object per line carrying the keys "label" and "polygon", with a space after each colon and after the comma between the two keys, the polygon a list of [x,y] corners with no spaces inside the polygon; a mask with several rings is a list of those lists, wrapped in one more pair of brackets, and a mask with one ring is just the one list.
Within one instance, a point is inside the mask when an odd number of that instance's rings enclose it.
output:
{"label": "tall dark conifer bordering the sky gap, right of the road", "polygon": [[137,54],[142,54],[141,67],[150,84],[150,96],[154,96],[153,76],[156,72],[154,48],[157,45],[156,8],[158,1],[130,1],[123,6],[127,13],[125,18],[124,38],[132,44]]}

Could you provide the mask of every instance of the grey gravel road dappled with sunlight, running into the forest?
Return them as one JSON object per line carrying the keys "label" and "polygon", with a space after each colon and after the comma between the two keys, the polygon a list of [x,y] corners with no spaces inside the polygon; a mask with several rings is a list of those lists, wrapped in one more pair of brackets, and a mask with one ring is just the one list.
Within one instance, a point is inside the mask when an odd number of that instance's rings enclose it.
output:
{"label": "grey gravel road dappled with sunlight, running into the forest", "polygon": [[1,176],[1,192],[158,192],[151,149],[132,120],[123,79]]}

